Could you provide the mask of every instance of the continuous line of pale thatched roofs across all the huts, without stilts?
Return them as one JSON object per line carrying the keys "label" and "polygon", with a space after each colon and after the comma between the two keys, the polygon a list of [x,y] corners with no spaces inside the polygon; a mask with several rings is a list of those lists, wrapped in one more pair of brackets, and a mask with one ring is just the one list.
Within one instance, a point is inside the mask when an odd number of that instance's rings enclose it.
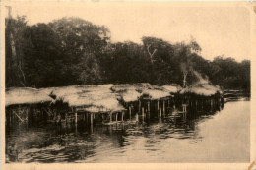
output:
{"label": "continuous line of pale thatched roofs across all the huts, without stilts", "polygon": [[177,91],[206,96],[222,92],[219,86],[208,83],[191,85],[183,89],[174,84],[163,86],[150,84],[71,85],[40,89],[13,87],[6,89],[6,106],[36,104],[62,99],[69,106],[93,106],[103,107],[109,111],[121,111],[125,108],[119,103],[119,98],[125,102],[137,101],[138,98],[144,95],[151,99],[160,99],[172,96],[170,93]]}

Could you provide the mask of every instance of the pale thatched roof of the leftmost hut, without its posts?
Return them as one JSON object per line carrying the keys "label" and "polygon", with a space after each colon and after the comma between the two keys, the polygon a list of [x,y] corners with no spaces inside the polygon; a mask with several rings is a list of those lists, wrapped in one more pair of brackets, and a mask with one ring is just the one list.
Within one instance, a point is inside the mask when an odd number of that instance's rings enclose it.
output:
{"label": "pale thatched roof of the leftmost hut, without its posts", "polygon": [[51,89],[35,89],[29,87],[12,87],[6,89],[5,105],[37,104],[53,101],[48,96]]}

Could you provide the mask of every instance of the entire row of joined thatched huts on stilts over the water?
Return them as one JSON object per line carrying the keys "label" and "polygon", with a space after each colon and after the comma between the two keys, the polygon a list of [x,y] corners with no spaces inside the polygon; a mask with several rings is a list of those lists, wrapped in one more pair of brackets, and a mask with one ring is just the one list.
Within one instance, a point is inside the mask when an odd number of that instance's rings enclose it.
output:
{"label": "entire row of joined thatched huts on stilts over the water", "polygon": [[[176,84],[122,84],[122,85],[70,85],[50,88],[18,87],[6,89],[6,115],[11,124],[19,121],[37,120],[47,122],[75,122],[85,120],[112,123],[113,120],[131,120],[132,115],[164,117],[177,109],[186,112],[187,106],[196,110],[221,103],[219,86],[200,83],[182,88]],[[128,111],[129,114],[125,113]],[[36,122],[36,121],[35,121]]]}

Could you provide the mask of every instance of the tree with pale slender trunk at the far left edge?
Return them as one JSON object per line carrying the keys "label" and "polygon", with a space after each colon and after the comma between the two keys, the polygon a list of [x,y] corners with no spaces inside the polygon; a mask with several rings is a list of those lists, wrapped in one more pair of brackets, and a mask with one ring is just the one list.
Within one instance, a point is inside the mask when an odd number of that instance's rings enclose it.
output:
{"label": "tree with pale slender trunk at the far left edge", "polygon": [[9,11],[5,23],[6,86],[26,86],[23,61],[23,45],[26,43],[23,31],[28,27],[26,17],[13,19]]}

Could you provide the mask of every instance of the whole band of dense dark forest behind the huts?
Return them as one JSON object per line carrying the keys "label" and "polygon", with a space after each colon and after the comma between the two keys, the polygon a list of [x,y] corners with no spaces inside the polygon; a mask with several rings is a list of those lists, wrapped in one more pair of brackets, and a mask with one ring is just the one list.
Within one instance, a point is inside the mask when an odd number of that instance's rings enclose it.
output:
{"label": "whole band of dense dark forest behind the huts", "polygon": [[[6,87],[150,83],[192,85],[200,73],[223,88],[250,91],[250,61],[217,56],[209,61],[195,39],[171,44],[111,42],[110,30],[79,18],[27,24],[6,19]],[[196,72],[195,72],[196,71]]]}

